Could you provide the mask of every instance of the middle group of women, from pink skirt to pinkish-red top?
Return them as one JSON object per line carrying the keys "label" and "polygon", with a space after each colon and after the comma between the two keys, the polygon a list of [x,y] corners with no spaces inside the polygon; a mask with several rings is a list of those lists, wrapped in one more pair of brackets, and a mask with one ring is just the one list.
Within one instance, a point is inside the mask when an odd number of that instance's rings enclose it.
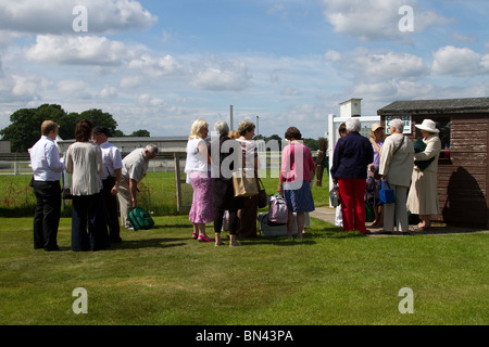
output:
{"label": "middle group of women, from pink skirt to pinkish-red top", "polygon": [[[224,245],[221,232],[225,219],[229,230],[229,246],[239,246],[238,237],[256,236],[259,196],[236,196],[231,175],[242,170],[244,176],[254,178],[259,190],[260,162],[252,140],[255,125],[250,120],[240,123],[236,132],[221,120],[214,125],[216,138],[206,143],[209,124],[203,119],[193,121],[185,166],[187,182],[193,189],[189,213],[193,239],[214,242],[215,246]],[[289,144],[283,151],[277,193],[284,195],[288,207],[287,235],[292,237],[293,221],[297,220],[297,237],[301,239],[304,214],[314,210],[310,184],[315,166],[311,151],[301,143],[299,129],[288,128],[285,138]],[[298,158],[301,158],[300,163]],[[205,234],[205,224],[210,222],[214,223],[214,239]]]}

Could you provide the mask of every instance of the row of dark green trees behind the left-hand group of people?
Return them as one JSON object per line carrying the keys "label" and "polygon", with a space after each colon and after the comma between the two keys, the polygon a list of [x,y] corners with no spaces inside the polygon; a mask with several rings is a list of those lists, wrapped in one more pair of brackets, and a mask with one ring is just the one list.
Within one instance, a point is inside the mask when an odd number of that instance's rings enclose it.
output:
{"label": "row of dark green trees behind the left-hand group of people", "polygon": [[66,113],[60,105],[43,104],[37,108],[21,108],[10,116],[11,125],[0,130],[2,140],[10,140],[14,153],[24,153],[30,149],[40,137],[42,121],[50,119],[60,125],[59,136],[63,140],[74,138],[75,127],[82,119],[91,120],[96,126],[104,126],[111,131],[111,137],[149,137],[148,130],[137,130],[126,136],[117,129],[114,117],[101,110],[92,108],[82,113]]}

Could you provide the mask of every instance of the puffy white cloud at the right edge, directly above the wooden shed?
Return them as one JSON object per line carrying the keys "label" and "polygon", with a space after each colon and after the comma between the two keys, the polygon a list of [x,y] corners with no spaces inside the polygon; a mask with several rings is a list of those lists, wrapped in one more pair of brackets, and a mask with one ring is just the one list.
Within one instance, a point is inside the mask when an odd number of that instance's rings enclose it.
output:
{"label": "puffy white cloud at the right edge, directly above the wooden shed", "polygon": [[481,55],[468,48],[446,46],[434,53],[432,70],[452,76],[489,74],[489,54]]}

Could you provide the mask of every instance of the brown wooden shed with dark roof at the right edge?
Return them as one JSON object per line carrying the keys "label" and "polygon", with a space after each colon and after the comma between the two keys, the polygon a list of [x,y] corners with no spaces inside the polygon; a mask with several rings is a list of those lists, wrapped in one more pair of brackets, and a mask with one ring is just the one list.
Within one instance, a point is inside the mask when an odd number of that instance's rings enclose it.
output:
{"label": "brown wooden shed with dark roof at the right edge", "polygon": [[377,111],[384,126],[404,120],[404,133],[421,138],[414,127],[432,119],[440,130],[438,170],[440,215],[454,226],[489,226],[489,98],[396,101]]}

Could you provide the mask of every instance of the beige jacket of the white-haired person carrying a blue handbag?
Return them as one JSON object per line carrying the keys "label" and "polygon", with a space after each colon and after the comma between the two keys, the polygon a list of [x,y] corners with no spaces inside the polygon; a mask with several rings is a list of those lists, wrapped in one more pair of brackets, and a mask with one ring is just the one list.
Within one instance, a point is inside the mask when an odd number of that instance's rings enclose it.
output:
{"label": "beige jacket of the white-haired person carrying a blue handbag", "polygon": [[387,177],[389,184],[410,187],[413,156],[413,142],[402,133],[391,134],[380,149],[379,174]]}

